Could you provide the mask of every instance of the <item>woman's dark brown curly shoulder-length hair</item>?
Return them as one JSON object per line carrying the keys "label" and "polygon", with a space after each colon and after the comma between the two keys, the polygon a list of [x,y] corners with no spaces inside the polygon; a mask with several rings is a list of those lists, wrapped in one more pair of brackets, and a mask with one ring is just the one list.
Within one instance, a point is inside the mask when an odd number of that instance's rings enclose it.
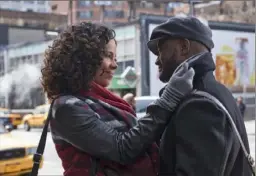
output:
{"label": "woman's dark brown curly shoulder-length hair", "polygon": [[114,30],[88,22],[63,31],[45,52],[41,83],[48,98],[88,90],[114,38]]}

